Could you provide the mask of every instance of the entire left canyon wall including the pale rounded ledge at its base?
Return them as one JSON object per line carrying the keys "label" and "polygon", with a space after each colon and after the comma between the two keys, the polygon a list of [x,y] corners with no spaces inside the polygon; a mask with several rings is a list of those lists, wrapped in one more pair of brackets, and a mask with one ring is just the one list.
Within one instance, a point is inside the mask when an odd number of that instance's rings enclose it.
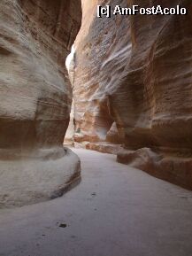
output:
{"label": "entire left canyon wall including the pale rounded ledge at its base", "polygon": [[72,103],[65,58],[81,1],[2,0],[0,14],[0,206],[20,206],[55,197],[80,176],[62,144]]}

